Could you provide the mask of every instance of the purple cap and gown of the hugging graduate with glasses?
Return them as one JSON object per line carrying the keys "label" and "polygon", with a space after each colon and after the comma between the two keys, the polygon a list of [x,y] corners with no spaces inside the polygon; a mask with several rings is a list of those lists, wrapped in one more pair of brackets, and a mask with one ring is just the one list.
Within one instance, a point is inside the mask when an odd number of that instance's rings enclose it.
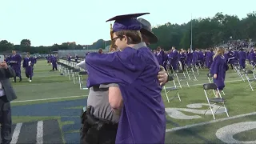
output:
{"label": "purple cap and gown of the hugging graduate with glasses", "polygon": [[[111,18],[116,20],[114,34],[122,30],[140,30],[142,26],[136,17],[141,15],[128,14]],[[115,39],[120,42],[124,38]],[[156,77],[160,67],[148,47],[138,50],[126,47],[113,54],[90,53],[86,57],[86,68],[87,87],[118,83],[121,90],[123,107],[116,143],[165,142],[165,106],[161,96],[162,87]]]}

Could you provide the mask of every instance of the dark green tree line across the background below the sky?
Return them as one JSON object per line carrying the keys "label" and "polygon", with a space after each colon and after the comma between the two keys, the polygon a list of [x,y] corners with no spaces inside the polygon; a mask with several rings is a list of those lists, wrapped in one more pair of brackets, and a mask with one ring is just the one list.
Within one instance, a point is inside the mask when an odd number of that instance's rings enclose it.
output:
{"label": "dark green tree line across the background below the sky", "polygon": [[[191,23],[192,22],[192,23]],[[151,44],[150,48],[155,49],[161,46],[169,50],[171,46],[189,48],[191,42],[193,48],[205,49],[216,46],[232,39],[256,39],[256,12],[248,13],[246,18],[239,19],[236,15],[217,13],[212,18],[197,18],[181,25],[167,22],[160,26],[155,26],[152,30],[158,37],[158,42]],[[57,50],[95,50],[105,48],[110,45],[110,41],[98,39],[91,45],[77,45],[75,42],[63,42],[61,45],[53,46],[31,46],[29,39],[22,39],[20,45],[14,45],[7,40],[0,41],[0,52],[8,50],[19,50],[30,52],[31,54],[49,54]]]}

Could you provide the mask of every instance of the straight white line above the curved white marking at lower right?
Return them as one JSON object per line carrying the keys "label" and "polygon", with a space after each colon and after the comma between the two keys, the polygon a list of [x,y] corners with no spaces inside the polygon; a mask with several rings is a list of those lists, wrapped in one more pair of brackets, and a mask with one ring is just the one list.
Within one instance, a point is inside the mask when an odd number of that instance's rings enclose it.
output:
{"label": "straight white line above the curved white marking at lower right", "polygon": [[192,127],[196,127],[196,126],[204,126],[204,125],[208,125],[208,124],[211,124],[211,123],[222,122],[222,121],[226,121],[226,120],[230,120],[230,119],[235,119],[235,118],[242,118],[242,117],[246,117],[246,116],[250,116],[250,115],[255,115],[255,114],[256,114],[256,112],[253,112],[253,113],[248,113],[248,114],[236,115],[236,116],[229,117],[229,118],[220,118],[220,119],[212,120],[212,121],[209,121],[209,122],[200,122],[200,123],[193,124],[193,125],[174,127],[172,129],[166,129],[166,132],[173,132],[173,131],[177,131],[177,130],[184,130],[184,129],[188,129],[188,128],[192,128]]}

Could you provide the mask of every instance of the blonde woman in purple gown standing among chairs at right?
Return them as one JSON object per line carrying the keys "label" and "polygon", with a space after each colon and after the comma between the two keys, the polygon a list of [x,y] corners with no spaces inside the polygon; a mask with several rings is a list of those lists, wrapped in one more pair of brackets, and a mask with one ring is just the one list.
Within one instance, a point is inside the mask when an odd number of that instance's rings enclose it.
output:
{"label": "blonde woman in purple gown standing among chairs at right", "polygon": [[[226,70],[228,70],[224,52],[225,50],[221,47],[217,49],[214,55],[214,61],[210,68],[210,74],[214,75],[214,83],[218,86],[218,90],[220,91],[222,91],[225,87]],[[218,98],[218,93],[215,94]]]}

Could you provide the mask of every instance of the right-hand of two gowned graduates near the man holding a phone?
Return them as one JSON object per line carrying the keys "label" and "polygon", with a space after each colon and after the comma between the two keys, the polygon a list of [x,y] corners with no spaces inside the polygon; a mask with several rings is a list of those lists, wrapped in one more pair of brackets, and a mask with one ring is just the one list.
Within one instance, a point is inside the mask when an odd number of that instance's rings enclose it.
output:
{"label": "right-hand of two gowned graduates near the man holding a phone", "polygon": [[30,57],[30,54],[26,54],[26,58],[23,60],[23,68],[25,68],[26,78],[29,78],[29,82],[32,82],[34,74],[34,58]]}

